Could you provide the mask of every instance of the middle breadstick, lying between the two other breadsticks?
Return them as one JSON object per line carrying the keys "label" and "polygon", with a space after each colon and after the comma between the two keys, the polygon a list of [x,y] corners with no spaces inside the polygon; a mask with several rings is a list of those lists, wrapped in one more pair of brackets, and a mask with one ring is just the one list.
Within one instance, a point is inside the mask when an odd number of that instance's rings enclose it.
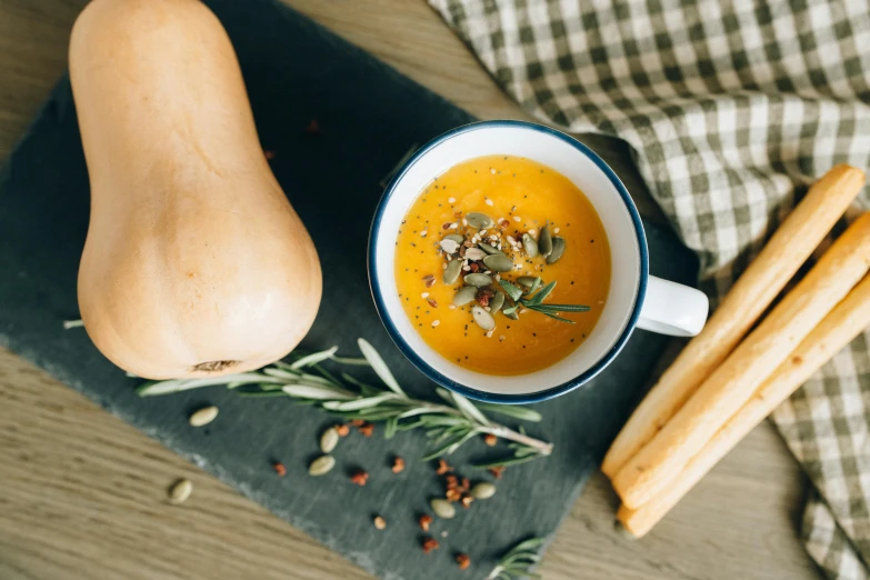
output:
{"label": "middle breadstick, lying between the two other breadsticks", "polygon": [[652,440],[613,478],[629,508],[662,492],[716,432],[788,358],[870,267],[870,212],[824,252],[816,267],[726,359]]}

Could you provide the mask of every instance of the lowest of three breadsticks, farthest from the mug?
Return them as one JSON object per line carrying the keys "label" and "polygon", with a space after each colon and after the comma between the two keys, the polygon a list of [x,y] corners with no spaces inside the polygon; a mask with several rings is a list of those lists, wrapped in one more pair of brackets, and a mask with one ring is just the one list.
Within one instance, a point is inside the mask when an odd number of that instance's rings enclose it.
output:
{"label": "lowest of three breadsticks, farthest from the mug", "polygon": [[644,536],[741,439],[867,327],[870,327],[870,276],[864,277],[849,296],[824,317],[786,362],[779,366],[777,372],[756,391],[752,399],[689,461],[682,473],[662,493],[636,510],[624,506],[619,509],[617,518],[622,526],[632,536]]}

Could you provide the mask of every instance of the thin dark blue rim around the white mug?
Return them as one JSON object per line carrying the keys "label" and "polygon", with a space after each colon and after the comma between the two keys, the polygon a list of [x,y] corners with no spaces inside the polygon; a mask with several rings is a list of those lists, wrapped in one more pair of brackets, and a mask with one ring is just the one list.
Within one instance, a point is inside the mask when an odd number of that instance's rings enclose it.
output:
{"label": "thin dark blue rim around the white mug", "polygon": [[[467,133],[469,131],[477,131],[480,129],[489,129],[489,128],[513,128],[513,129],[527,129],[531,131],[539,131],[549,134],[551,137],[554,137],[557,139],[560,139],[561,141],[564,141],[566,143],[570,144],[572,148],[578,150],[580,153],[589,158],[604,173],[604,176],[607,176],[607,178],[610,180],[610,182],[613,184],[613,187],[622,198],[622,201],[626,204],[629,214],[631,216],[631,221],[634,224],[634,232],[638,238],[638,248],[640,250],[640,280],[638,283],[638,291],[634,297],[634,309],[631,312],[631,317],[629,318],[628,322],[626,322],[622,332],[620,333],[619,338],[616,340],[613,346],[610,348],[610,350],[598,361],[596,361],[594,364],[592,364],[590,368],[588,368],[582,373],[578,374],[571,380],[566,381],[561,384],[557,384],[556,387],[550,387],[541,391],[534,391],[534,392],[521,393],[521,394],[502,394],[502,393],[479,391],[472,387],[460,384],[453,381],[452,379],[443,376],[440,371],[438,371],[438,369],[433,368],[426,360],[423,360],[423,358],[420,357],[411,348],[411,346],[404,340],[404,337],[402,337],[401,332],[396,327],[392,320],[392,314],[390,314],[389,310],[387,309],[387,304],[383,299],[383,289],[381,288],[381,283],[378,278],[377,236],[380,232],[381,221],[383,220],[383,213],[387,210],[390,200],[392,199],[393,192],[396,191],[396,186],[402,180],[402,178],[411,169],[411,167],[413,167],[413,164],[417,163],[417,161],[419,161],[423,156],[426,156],[429,151],[431,151],[436,147],[442,144],[444,141],[448,141],[454,137]],[[620,179],[617,177],[617,174],[613,172],[610,166],[608,166],[603,159],[598,157],[598,154],[594,151],[589,149],[587,146],[584,146],[573,137],[566,134],[561,131],[558,131],[556,129],[552,129],[550,127],[544,127],[542,124],[530,123],[528,121],[513,121],[513,120],[478,121],[478,122],[458,127],[439,137],[436,137],[428,143],[426,143],[423,147],[418,149],[392,177],[389,184],[387,186],[387,189],[383,191],[381,201],[378,203],[378,208],[374,211],[374,218],[372,219],[371,222],[371,229],[369,230],[368,271],[369,271],[369,286],[371,287],[371,294],[372,298],[374,299],[374,308],[378,310],[378,316],[380,317],[381,322],[383,322],[383,326],[387,328],[387,332],[390,334],[390,338],[399,348],[399,350],[402,352],[402,354],[404,354],[406,358],[408,358],[408,360],[410,360],[411,363],[413,363],[413,366],[417,367],[423,374],[426,374],[429,379],[437,382],[441,387],[458,392],[459,394],[468,397],[469,399],[493,402],[493,403],[501,403],[501,404],[529,404],[529,403],[546,401],[548,399],[552,399],[554,397],[559,397],[561,394],[573,391],[574,389],[588,383],[598,373],[604,370],[608,367],[608,364],[610,364],[613,361],[613,359],[616,359],[617,354],[619,354],[619,352],[626,346],[629,338],[631,337],[631,333],[634,331],[634,328],[638,324],[640,310],[643,307],[643,298],[647,294],[647,280],[649,278],[649,253],[647,248],[647,236],[643,231],[643,223],[640,220],[640,214],[638,213],[638,209],[634,207],[634,202],[632,201],[631,196],[629,196],[626,186],[622,184],[622,181],[620,181]],[[444,363],[450,364],[448,360],[444,360]]]}

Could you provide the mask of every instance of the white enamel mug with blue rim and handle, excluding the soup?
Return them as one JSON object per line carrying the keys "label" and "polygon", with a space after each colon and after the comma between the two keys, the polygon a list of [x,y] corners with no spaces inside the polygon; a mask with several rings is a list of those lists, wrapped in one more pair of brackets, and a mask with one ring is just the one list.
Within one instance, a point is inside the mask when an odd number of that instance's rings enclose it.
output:
{"label": "white enamel mug with blue rim and handle, excluding the soup", "polygon": [[[596,208],[610,242],[610,291],[592,332],[561,361],[522,376],[493,377],[443,358],[418,334],[396,287],[396,239],[408,209],[433,178],[458,163],[491,154],[524,157],[567,177]],[[636,327],[694,336],[703,328],[709,308],[707,296],[699,290],[649,276],[640,216],[613,170],[577,139],[524,121],[460,127],[427,143],[399,169],[372,221],[369,281],[390,337],[418,369],[448,389],[500,403],[541,401],[588,382],[619,354]]]}

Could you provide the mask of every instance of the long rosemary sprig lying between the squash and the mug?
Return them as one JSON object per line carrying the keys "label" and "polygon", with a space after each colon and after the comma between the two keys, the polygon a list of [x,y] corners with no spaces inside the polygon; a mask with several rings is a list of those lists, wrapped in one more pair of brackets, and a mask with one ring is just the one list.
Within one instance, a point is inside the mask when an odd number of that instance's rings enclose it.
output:
{"label": "long rosemary sprig lying between the squash and the mug", "polygon": [[[140,397],[181,392],[202,387],[224,386],[248,397],[290,397],[346,419],[383,422],[384,437],[399,431],[421,428],[430,439],[432,450],[423,460],[449,456],[476,436],[493,434],[508,441],[513,457],[479,467],[516,464],[547,457],[552,443],[490,420],[483,411],[501,413],[522,421],[538,422],[540,413],[532,409],[491,403],[474,404],[461,394],[436,389],[443,402],[412,399],[402,390],[387,363],[363,339],[358,341],[364,359],[337,357],[338,348],[294,357],[292,362],[278,361],[257,371],[202,379],[174,379],[147,382],[139,387]],[[343,366],[367,364],[380,378],[381,384],[369,384],[342,372],[334,377],[321,363]],[[517,461],[522,459],[523,461]]]}

